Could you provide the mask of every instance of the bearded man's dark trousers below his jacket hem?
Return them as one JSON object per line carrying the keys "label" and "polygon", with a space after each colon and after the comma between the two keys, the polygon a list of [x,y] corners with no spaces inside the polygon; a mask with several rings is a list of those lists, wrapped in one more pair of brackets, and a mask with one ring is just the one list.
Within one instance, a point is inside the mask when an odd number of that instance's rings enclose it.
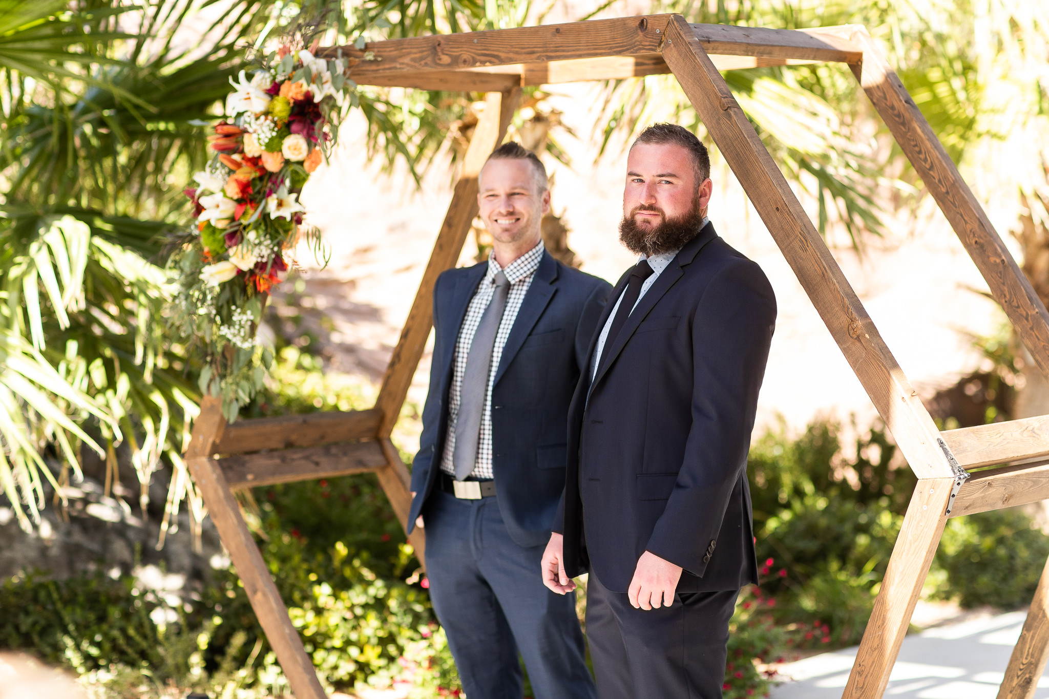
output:
{"label": "bearded man's dark trousers below his jacket hem", "polygon": [[669,607],[645,611],[591,571],[586,638],[598,696],[721,699],[728,622],[738,592],[679,592]]}

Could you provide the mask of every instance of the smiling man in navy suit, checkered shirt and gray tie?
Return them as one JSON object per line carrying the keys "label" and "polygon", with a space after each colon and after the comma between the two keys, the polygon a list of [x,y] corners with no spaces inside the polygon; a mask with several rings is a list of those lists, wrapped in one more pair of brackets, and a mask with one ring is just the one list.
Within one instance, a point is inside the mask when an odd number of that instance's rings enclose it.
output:
{"label": "smiling man in navy suit, checkered shirt and gray tie", "polygon": [[409,522],[426,528],[430,597],[467,696],[520,699],[520,653],[536,697],[592,699],[575,599],[543,587],[539,560],[564,487],[569,402],[612,287],[543,248],[550,191],[535,154],[500,146],[478,189],[493,249],[433,289]]}

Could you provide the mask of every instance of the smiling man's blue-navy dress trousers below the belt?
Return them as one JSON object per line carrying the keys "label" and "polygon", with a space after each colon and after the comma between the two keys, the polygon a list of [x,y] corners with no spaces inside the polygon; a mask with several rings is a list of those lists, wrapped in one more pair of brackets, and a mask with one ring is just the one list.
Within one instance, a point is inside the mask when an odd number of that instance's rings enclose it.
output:
{"label": "smiling man's blue-navy dress trousers below the belt", "polygon": [[430,598],[469,699],[596,699],[574,593],[543,586],[543,546],[522,548],[495,498],[435,492],[424,509]]}

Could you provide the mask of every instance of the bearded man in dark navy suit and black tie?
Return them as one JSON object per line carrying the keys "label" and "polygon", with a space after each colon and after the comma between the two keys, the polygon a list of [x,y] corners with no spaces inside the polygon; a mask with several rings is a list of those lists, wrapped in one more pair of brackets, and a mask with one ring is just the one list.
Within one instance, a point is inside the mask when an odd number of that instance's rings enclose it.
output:
{"label": "bearded man in dark navy suit and black tie", "polygon": [[590,570],[601,699],[721,697],[735,598],[757,583],[747,452],[776,304],[707,220],[709,175],[680,126],[631,146],[620,240],[641,259],[613,291],[569,410],[542,573],[563,594]]}

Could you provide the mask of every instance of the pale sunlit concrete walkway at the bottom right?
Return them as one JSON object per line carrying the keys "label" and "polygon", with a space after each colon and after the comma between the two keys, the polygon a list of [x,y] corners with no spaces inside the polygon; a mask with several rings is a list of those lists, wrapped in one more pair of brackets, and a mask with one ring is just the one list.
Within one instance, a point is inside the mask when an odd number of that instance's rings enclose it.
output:
{"label": "pale sunlit concrete walkway at the bottom right", "polygon": [[[1027,612],[1009,612],[927,629],[903,639],[885,697],[994,699]],[[780,668],[786,681],[771,699],[838,699],[856,649],[814,655]],[[1049,675],[1035,699],[1049,699]]]}

